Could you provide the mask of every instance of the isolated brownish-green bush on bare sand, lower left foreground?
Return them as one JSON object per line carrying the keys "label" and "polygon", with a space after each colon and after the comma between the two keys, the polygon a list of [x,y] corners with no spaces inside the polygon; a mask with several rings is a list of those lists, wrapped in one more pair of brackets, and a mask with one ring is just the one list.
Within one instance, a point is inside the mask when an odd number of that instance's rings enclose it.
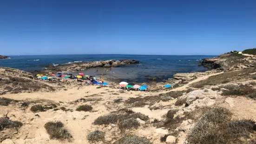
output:
{"label": "isolated brownish-green bush on bare sand, lower left foreground", "polygon": [[72,137],[72,135],[63,127],[63,123],[59,121],[47,122],[44,127],[50,138],[66,139]]}

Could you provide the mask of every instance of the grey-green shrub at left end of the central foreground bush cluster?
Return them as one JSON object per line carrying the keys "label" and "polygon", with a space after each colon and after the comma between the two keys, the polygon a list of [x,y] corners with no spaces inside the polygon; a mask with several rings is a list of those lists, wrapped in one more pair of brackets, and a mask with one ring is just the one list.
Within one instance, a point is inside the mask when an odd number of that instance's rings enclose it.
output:
{"label": "grey-green shrub at left end of the central foreground bush cluster", "polygon": [[93,124],[101,125],[101,124],[116,124],[118,121],[118,115],[117,114],[108,114],[105,116],[100,116],[96,118],[93,122]]}

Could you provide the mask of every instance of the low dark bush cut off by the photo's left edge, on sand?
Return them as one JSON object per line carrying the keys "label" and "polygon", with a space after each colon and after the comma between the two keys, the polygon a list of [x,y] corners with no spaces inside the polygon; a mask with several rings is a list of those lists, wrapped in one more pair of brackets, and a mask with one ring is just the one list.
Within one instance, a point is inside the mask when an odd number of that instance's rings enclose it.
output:
{"label": "low dark bush cut off by the photo's left edge, on sand", "polygon": [[0,118],[0,131],[8,128],[17,128],[22,126],[22,123],[18,121],[12,121],[7,117]]}

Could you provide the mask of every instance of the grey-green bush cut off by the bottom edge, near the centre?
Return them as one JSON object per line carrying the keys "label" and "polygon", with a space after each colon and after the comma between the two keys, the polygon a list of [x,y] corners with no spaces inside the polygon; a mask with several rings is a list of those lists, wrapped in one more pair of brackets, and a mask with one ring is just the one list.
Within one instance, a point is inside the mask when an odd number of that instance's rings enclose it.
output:
{"label": "grey-green bush cut off by the bottom edge, near the centre", "polygon": [[145,137],[128,135],[117,140],[114,144],[151,144],[151,142]]}

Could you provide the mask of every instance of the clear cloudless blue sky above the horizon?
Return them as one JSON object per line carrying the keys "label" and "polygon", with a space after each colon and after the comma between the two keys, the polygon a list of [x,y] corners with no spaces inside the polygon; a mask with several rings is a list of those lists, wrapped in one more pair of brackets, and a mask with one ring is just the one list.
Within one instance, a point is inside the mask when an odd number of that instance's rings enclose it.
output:
{"label": "clear cloudless blue sky above the horizon", "polygon": [[256,0],[0,0],[0,54],[217,55],[256,47]]}

